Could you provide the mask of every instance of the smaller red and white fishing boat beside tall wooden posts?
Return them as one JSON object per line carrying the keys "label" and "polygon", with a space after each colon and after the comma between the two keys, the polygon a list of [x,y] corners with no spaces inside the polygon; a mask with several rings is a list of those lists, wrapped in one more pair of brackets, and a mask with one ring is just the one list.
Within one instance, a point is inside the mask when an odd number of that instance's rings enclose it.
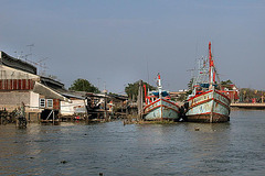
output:
{"label": "smaller red and white fishing boat beside tall wooden posts", "polygon": [[172,120],[178,121],[180,119],[179,106],[170,100],[169,92],[162,90],[160,75],[157,76],[157,90],[147,92],[145,88],[145,101],[144,119],[145,120]]}

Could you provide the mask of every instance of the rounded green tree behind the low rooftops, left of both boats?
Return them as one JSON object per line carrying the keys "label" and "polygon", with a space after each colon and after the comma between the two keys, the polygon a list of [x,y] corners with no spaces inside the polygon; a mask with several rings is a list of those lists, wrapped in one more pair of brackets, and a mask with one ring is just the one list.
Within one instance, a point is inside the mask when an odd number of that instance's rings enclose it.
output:
{"label": "rounded green tree behind the low rooftops, left of both boats", "polygon": [[98,88],[92,85],[88,80],[81,78],[76,79],[68,89],[75,91],[100,92]]}

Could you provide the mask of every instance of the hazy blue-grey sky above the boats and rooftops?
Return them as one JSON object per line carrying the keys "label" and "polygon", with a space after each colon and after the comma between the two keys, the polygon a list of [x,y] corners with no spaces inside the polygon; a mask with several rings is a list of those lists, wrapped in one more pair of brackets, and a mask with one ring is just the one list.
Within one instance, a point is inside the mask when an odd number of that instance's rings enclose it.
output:
{"label": "hazy blue-grey sky above the boats and rooftops", "polygon": [[138,79],[187,88],[195,58],[213,55],[223,80],[265,89],[263,0],[1,0],[0,50],[47,57],[68,87],[85,78],[123,92]]}

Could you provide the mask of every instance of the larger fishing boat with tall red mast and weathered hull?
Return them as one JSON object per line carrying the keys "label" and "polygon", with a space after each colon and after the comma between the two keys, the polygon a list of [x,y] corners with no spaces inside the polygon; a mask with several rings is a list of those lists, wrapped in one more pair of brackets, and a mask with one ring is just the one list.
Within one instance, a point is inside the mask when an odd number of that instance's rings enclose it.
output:
{"label": "larger fishing boat with tall red mast and weathered hull", "polygon": [[212,57],[211,42],[208,55],[199,61],[192,94],[184,103],[186,119],[191,122],[227,122],[231,100],[227,92],[220,90],[220,85],[215,80],[219,76]]}

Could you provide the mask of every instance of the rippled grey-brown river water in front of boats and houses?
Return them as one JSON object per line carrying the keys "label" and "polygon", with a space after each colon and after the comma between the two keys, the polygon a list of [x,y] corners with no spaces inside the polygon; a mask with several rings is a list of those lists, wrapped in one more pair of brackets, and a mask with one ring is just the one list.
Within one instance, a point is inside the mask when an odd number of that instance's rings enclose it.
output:
{"label": "rippled grey-brown river water in front of boats and houses", "polygon": [[265,111],[229,123],[0,125],[0,175],[263,176]]}

